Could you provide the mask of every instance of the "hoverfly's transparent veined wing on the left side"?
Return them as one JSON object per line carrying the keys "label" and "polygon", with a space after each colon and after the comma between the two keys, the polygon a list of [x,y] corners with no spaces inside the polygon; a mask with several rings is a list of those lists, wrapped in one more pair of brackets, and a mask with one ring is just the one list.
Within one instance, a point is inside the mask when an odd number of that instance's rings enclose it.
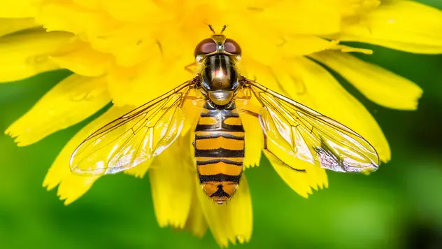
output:
{"label": "hoverfly's transparent veined wing on the left side", "polygon": [[180,135],[180,105],[192,80],[108,123],[86,138],[71,155],[74,173],[116,173],[159,155]]}

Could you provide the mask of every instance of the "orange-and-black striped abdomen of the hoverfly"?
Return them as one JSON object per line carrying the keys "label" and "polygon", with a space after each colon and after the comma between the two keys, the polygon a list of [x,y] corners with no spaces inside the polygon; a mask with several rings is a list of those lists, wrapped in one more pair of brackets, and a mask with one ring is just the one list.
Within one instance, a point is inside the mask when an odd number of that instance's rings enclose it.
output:
{"label": "orange-and-black striped abdomen of the hoverfly", "polygon": [[244,129],[234,104],[204,105],[194,148],[201,186],[218,204],[226,202],[238,187],[244,161]]}

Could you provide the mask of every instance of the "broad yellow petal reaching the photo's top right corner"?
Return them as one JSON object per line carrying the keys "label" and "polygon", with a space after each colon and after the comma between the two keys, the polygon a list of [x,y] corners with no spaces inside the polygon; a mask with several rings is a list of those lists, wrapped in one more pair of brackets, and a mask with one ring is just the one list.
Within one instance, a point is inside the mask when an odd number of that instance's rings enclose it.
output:
{"label": "broad yellow petal reaching the photo's top right corner", "polygon": [[344,22],[341,41],[361,41],[416,53],[442,52],[442,11],[415,1],[391,1]]}

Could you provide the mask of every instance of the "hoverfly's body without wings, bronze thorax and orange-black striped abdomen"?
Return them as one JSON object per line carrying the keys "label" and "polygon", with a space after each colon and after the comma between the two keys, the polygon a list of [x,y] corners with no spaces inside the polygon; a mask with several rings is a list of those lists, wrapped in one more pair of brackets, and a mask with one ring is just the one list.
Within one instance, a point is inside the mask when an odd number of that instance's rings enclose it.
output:
{"label": "hoverfly's body without wings, bronze thorax and orange-black striped abdomen", "polygon": [[[243,171],[244,129],[233,101],[238,73],[233,57],[224,54],[224,36],[202,41],[197,56],[208,55],[201,70],[206,104],[195,129],[195,159],[203,190],[218,203],[235,192]],[[212,50],[204,47],[212,45]],[[233,45],[233,44],[232,44]],[[219,51],[218,51],[219,50]]]}

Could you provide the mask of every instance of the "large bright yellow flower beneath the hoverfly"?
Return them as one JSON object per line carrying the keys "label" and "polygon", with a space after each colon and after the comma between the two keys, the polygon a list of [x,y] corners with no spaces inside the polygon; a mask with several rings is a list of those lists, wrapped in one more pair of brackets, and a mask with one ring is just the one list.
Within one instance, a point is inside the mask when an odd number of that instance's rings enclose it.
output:
{"label": "large bright yellow flower beneath the hoverfly", "polygon": [[[206,24],[218,29],[228,25],[224,34],[241,44],[246,77],[354,129],[374,145],[383,162],[390,159],[390,148],[380,127],[325,66],[381,106],[414,110],[420,87],[348,53],[371,51],[339,41],[442,52],[441,11],[413,1],[17,0],[1,1],[0,17],[0,82],[56,69],[73,71],[7,129],[17,145],[35,143],[113,102],[69,141],[44,180],[49,190],[58,185],[65,204],[97,180],[69,170],[76,145],[110,120],[192,78],[184,66],[194,62],[194,46],[211,35]],[[241,118],[246,133],[262,133],[257,120]],[[246,167],[259,164],[263,145],[262,136],[248,139],[253,141],[246,141]],[[183,151],[187,145],[189,152]],[[303,197],[312,188],[327,187],[324,169],[299,161],[308,173],[297,173],[271,163]],[[196,180],[190,132],[152,162],[126,173],[142,177],[147,171],[160,226],[191,229],[199,236],[209,227],[221,246],[250,239],[246,180],[229,205],[209,201]]]}

